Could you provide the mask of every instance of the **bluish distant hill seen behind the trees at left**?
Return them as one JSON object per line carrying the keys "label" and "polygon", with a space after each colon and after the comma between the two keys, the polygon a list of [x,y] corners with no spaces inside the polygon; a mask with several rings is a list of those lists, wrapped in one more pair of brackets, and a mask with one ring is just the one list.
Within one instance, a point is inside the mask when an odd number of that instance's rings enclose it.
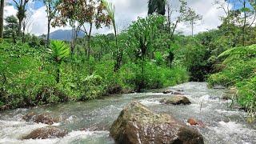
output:
{"label": "bluish distant hill seen behind the trees at left", "polygon": [[[84,35],[85,35],[84,33],[79,32],[78,37],[83,37]],[[71,41],[72,30],[56,30],[56,31],[50,33],[50,39]]]}

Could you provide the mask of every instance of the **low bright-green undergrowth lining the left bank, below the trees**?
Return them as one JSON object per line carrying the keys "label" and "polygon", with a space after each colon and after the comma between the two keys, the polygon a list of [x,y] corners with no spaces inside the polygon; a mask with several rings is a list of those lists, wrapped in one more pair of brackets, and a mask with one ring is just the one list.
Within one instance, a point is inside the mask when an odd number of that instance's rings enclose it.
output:
{"label": "low bright-green undergrowth lining the left bank, below the trees", "polygon": [[175,86],[189,80],[185,67],[177,65],[170,69],[150,60],[143,62],[143,73],[138,62],[130,61],[114,72],[112,55],[106,55],[102,61],[86,61],[85,56],[74,55],[56,63],[44,46],[11,42],[3,42],[0,53],[2,110],[87,101],[102,95]]}

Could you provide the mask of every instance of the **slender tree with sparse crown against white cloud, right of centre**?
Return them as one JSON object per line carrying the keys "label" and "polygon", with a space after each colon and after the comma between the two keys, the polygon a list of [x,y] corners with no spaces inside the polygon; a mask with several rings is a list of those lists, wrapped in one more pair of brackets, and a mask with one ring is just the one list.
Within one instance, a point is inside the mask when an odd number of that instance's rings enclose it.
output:
{"label": "slender tree with sparse crown against white cloud, right of centre", "polygon": [[201,19],[202,15],[196,14],[196,12],[191,8],[189,8],[186,12],[186,17],[184,18],[184,20],[186,22],[190,22],[192,37],[194,37],[194,24],[196,24],[196,22],[200,21]]}

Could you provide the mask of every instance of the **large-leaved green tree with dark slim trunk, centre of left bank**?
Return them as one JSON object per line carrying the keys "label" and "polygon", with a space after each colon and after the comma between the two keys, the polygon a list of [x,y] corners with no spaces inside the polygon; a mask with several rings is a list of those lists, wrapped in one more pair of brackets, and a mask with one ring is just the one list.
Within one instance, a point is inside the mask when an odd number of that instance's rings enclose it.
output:
{"label": "large-leaved green tree with dark slim trunk, centre of left bank", "polygon": [[159,34],[160,26],[165,21],[163,16],[150,15],[147,18],[139,18],[127,30],[130,35],[130,47],[134,48],[137,61],[141,67],[141,79],[138,83],[138,89],[145,88],[144,68],[146,64],[146,55],[149,53],[150,48],[153,47],[154,38]]}

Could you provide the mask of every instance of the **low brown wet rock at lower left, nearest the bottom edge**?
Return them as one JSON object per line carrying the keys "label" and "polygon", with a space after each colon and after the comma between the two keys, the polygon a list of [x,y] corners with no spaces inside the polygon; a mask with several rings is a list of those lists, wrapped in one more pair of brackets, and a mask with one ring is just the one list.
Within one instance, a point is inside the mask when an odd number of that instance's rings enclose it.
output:
{"label": "low brown wet rock at lower left, nearest the bottom edge", "polygon": [[66,134],[66,130],[58,128],[57,126],[46,126],[33,130],[30,134],[22,139],[63,138]]}

